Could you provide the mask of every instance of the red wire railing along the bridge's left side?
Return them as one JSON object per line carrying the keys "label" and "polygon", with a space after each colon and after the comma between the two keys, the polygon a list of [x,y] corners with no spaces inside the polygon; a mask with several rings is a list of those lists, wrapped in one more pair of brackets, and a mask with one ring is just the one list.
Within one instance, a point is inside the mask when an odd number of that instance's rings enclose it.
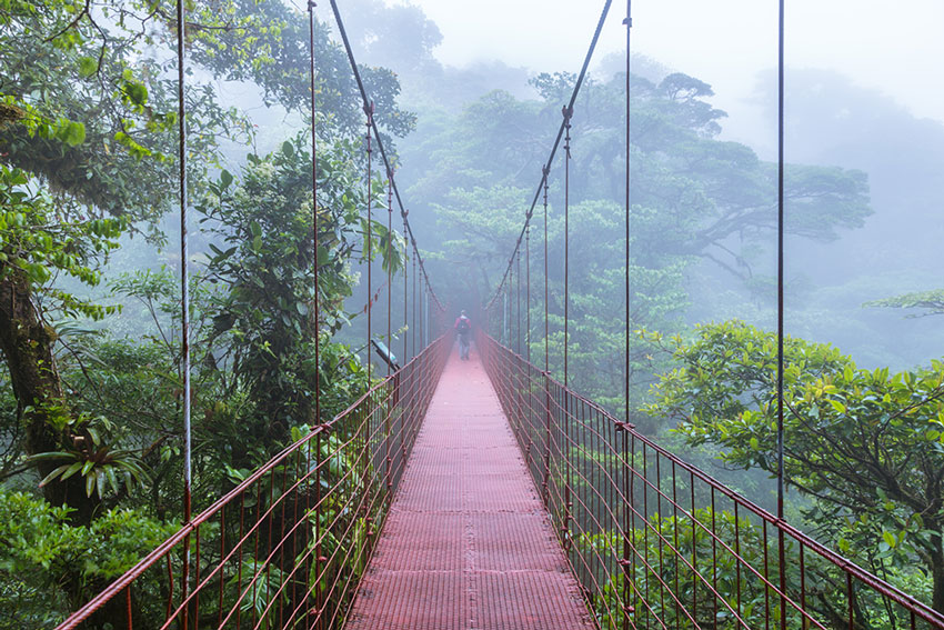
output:
{"label": "red wire railing along the bridge's left side", "polygon": [[339,628],[435,390],[440,338],[59,626]]}

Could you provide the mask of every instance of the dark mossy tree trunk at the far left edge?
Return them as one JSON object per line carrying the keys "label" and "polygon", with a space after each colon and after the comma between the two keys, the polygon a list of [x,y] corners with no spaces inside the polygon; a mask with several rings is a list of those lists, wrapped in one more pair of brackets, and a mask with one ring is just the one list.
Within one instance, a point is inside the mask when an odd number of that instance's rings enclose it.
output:
{"label": "dark mossy tree trunk at the far left edge", "polygon": [[[17,416],[26,429],[28,454],[61,450],[71,439],[53,422],[54,418],[70,413],[56,370],[54,342],[56,332],[40,318],[22,271],[0,263],[0,350],[10,372]],[[41,461],[38,468],[46,477],[58,466]],[[81,476],[46,484],[43,496],[53,506],[72,508],[73,523],[91,522],[97,501],[86,496]]]}

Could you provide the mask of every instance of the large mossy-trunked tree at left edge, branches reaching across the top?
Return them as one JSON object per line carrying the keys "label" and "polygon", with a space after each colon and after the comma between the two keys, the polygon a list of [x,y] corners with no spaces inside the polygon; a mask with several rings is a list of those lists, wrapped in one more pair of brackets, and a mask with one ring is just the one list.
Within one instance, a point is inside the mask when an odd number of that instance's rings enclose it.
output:
{"label": "large mossy-trunked tree at left edge, branches reaching across the top", "polygon": [[[279,2],[255,9],[254,2],[234,1],[190,7],[189,57],[217,76],[254,79],[284,107],[300,110],[310,100],[301,54],[307,17]],[[14,228],[0,242],[0,349],[31,456],[88,456],[90,448],[88,423],[62,389],[50,322],[59,316],[101,318],[108,309],[63,291],[59,274],[94,286],[121,232],[134,226],[161,238],[155,226],[173,199],[168,182],[175,178],[174,19],[149,2],[0,6],[0,196],[12,204],[4,221]],[[315,46],[327,66],[320,108],[328,123],[320,127],[330,136],[353,129],[356,119],[360,129],[362,114],[353,107],[360,94],[324,24]],[[381,124],[394,133],[409,130],[412,118],[395,103],[395,77],[383,69],[365,77],[383,112]],[[222,108],[208,86],[189,83],[189,164],[198,197],[201,176],[218,162],[220,137],[244,140],[249,123]],[[70,518],[89,522],[96,503],[84,480],[50,477],[61,460],[33,461],[48,480],[47,497],[56,504],[68,499]]]}

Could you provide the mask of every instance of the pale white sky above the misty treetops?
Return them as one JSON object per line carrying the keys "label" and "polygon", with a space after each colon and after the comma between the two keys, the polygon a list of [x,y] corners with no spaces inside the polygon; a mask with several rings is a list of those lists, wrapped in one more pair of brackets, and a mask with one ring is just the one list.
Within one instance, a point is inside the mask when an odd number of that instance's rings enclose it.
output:
{"label": "pale white sky above the misty treetops", "polygon": [[[440,27],[436,57],[464,66],[500,59],[576,71],[602,0],[386,0],[422,7]],[[776,64],[776,0],[636,0],[633,50],[711,83],[732,116],[756,73]],[[613,2],[597,59],[622,51],[625,2]],[[787,0],[786,58],[894,96],[944,121],[944,0]]]}

